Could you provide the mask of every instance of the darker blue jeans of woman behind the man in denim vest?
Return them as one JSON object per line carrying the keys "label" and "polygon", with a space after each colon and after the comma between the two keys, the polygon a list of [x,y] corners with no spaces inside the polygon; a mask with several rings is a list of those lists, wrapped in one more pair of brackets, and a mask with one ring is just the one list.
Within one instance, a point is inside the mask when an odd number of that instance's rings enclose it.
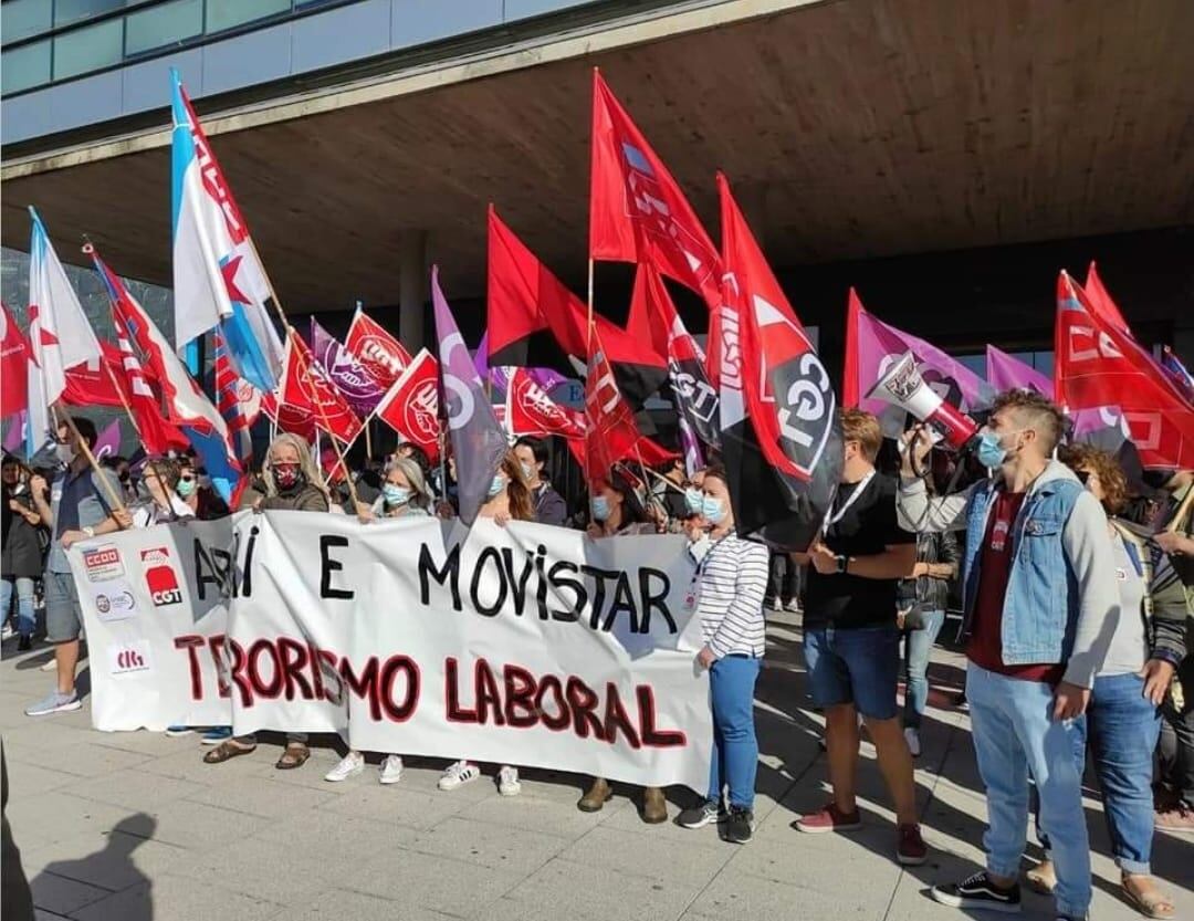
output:
{"label": "darker blue jeans of woman behind the man in denim vest", "polygon": [[[1152,753],[1161,736],[1161,711],[1144,696],[1139,675],[1100,675],[1087,716],[1076,722],[1075,763],[1087,765],[1087,737],[1095,760],[1115,862],[1125,873],[1152,873]],[[1041,847],[1051,852],[1039,829]]]}

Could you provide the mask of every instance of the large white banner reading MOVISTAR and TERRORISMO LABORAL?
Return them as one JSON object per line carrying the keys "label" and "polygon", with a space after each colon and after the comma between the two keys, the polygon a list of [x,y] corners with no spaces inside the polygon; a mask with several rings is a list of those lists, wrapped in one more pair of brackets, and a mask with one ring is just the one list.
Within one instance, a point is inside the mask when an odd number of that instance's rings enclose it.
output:
{"label": "large white banner reading MOVISTAR and TERRORISMO LABORAL", "polygon": [[678,536],[310,512],[70,551],[101,730],[232,723],[352,748],[708,782]]}

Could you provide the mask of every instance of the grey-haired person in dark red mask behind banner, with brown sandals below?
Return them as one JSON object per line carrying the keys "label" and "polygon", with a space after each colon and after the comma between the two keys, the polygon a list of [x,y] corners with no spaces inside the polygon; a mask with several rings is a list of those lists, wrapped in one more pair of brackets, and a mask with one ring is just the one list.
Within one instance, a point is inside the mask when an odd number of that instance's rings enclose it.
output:
{"label": "grey-haired person in dark red mask behind banner, with brown sandals below", "polygon": [[[265,496],[253,501],[253,511],[327,511],[331,508],[327,487],[315,468],[310,449],[297,435],[284,432],[270,443],[261,480],[265,484]],[[211,749],[203,756],[203,761],[220,765],[247,755],[256,748],[256,736],[234,736]],[[293,770],[306,765],[309,757],[306,733],[288,732],[287,750],[275,767],[278,770]]]}

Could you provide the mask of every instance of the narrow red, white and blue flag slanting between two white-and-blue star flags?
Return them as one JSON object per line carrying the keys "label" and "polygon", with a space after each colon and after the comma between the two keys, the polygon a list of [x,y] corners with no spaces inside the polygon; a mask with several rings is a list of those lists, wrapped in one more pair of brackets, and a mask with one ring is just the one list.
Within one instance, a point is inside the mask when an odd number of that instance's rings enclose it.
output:
{"label": "narrow red, white and blue flag slanting between two white-and-blue star flags", "polygon": [[241,466],[228,424],[186,373],[170,340],[129,294],[124,283],[104,264],[94,247],[91,247],[91,258],[112,301],[117,332],[140,352],[146,373],[161,387],[162,415],[190,440],[211,478],[211,485],[224,502],[230,503],[241,477]]}

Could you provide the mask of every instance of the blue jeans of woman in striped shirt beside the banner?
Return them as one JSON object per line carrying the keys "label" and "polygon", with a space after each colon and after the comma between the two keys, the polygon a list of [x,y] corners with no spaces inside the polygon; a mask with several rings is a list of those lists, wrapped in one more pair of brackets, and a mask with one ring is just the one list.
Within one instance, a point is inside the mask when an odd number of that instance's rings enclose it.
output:
{"label": "blue jeans of woman in striped shirt beside the banner", "polygon": [[755,808],[758,739],[755,737],[755,682],[762,659],[726,656],[709,669],[713,710],[713,759],[709,763],[709,799],[721,802],[730,787],[730,805]]}

